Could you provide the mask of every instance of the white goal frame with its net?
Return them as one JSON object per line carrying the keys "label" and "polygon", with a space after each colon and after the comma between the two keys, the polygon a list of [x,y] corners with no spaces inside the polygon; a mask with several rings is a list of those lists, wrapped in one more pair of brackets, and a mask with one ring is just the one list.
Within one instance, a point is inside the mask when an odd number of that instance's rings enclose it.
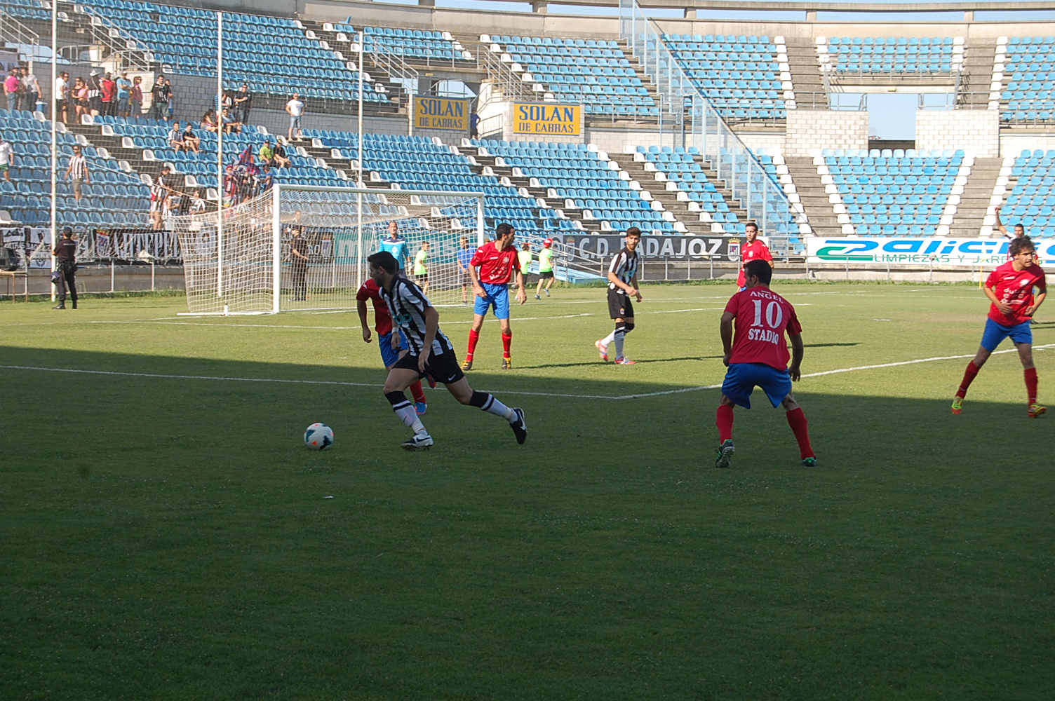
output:
{"label": "white goal frame with its net", "polygon": [[219,213],[168,219],[192,314],[354,308],[391,222],[406,276],[427,281],[433,304],[460,303],[457,254],[484,242],[482,194],[276,184]]}

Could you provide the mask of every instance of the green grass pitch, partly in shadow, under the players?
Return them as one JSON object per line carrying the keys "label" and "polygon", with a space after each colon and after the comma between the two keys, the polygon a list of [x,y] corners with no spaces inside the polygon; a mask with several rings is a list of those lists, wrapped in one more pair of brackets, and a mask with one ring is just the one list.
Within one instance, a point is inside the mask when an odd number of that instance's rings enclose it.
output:
{"label": "green grass pitch, partly in shadow, under the players", "polygon": [[[987,308],[774,290],[804,373],[973,354]],[[606,397],[721,383],[732,292],[647,286],[635,366],[596,356],[602,290],[516,309],[509,372],[490,320],[469,378],[526,444],[441,389],[413,454],[354,313],[3,303],[0,698],[1051,699],[1055,414],[1016,355],[960,416],[966,358],[804,377],[814,469],[756,392],[717,470],[717,390]],[[468,310],[441,316],[463,352]]]}

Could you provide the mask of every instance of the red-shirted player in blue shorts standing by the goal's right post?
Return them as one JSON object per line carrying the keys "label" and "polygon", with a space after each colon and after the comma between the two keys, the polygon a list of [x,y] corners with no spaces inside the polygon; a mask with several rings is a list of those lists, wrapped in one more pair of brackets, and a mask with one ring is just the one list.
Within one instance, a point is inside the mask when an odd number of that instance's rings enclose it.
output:
{"label": "red-shirted player in blue shorts standing by the goal's right post", "polygon": [[[462,370],[473,369],[473,353],[480,340],[480,329],[483,328],[483,317],[487,309],[495,308],[495,316],[502,328],[502,370],[513,367],[510,358],[510,346],[513,344],[513,330],[510,328],[510,283],[516,273],[517,301],[521,305],[528,301],[524,291],[524,276],[520,270],[520,259],[513,241],[517,234],[512,225],[500,223],[495,229],[495,240],[484,244],[476,250],[468,264],[468,276],[473,279],[473,293],[476,294],[476,307],[473,309],[473,327],[468,331],[468,350]],[[479,268],[479,272],[477,272]]]}

